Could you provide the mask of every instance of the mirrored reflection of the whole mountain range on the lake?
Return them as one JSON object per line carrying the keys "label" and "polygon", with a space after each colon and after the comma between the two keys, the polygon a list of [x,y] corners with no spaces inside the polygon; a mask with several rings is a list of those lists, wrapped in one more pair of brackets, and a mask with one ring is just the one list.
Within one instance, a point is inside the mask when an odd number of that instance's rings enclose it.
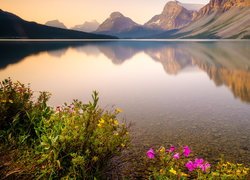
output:
{"label": "mirrored reflection of the whole mountain range on the lake", "polygon": [[[63,56],[70,47],[85,53],[91,47],[116,65],[122,65],[137,53],[144,52],[162,64],[165,72],[178,75],[187,68],[198,67],[216,86],[228,87],[236,98],[250,103],[249,42],[93,42],[93,43],[0,43],[0,69],[19,63],[26,56],[47,51]],[[15,53],[13,53],[15,52]]]}

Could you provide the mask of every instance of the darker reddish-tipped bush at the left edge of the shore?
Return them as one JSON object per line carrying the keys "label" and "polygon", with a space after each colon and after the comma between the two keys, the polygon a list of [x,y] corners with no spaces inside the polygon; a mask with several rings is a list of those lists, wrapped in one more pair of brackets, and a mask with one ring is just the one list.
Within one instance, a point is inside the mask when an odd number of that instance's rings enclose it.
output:
{"label": "darker reddish-tipped bush at the left edge of the shore", "polygon": [[42,118],[52,109],[47,106],[49,93],[40,92],[36,102],[33,92],[20,82],[6,79],[0,83],[0,142],[10,145],[29,144],[37,140]]}

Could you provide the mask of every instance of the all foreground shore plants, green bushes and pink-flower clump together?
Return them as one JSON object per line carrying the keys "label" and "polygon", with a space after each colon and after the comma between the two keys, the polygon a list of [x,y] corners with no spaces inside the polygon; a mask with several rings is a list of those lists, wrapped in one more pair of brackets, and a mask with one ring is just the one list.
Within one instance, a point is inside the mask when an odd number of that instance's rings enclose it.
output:
{"label": "all foreground shore plants, green bushes and pink-flower clump together", "polygon": [[[47,105],[50,96],[35,98],[29,86],[11,79],[0,83],[0,179],[130,179],[116,172],[130,167],[133,154],[131,124],[117,118],[122,110],[100,108],[96,91],[86,104],[73,100],[56,108]],[[188,146],[150,148],[140,156],[144,179],[249,178],[243,164],[210,164]]]}

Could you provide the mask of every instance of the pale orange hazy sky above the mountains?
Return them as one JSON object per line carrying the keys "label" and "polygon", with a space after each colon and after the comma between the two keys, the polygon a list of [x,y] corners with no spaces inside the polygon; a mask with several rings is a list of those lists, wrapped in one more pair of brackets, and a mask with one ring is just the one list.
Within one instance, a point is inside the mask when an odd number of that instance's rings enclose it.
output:
{"label": "pale orange hazy sky above the mountains", "polygon": [[[209,0],[180,0],[206,4]],[[44,24],[58,19],[67,27],[96,19],[102,23],[113,11],[120,11],[144,24],[159,14],[168,0],[0,0],[0,8],[28,21]]]}

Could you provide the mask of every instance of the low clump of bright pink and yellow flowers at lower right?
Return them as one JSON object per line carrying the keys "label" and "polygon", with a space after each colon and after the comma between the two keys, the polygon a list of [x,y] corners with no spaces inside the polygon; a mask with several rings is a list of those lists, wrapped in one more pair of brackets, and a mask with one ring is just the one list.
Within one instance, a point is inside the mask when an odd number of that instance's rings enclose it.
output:
{"label": "low clump of bright pink and yellow flowers at lower right", "polygon": [[247,179],[249,168],[220,161],[212,167],[202,158],[192,158],[188,146],[147,151],[151,179]]}

